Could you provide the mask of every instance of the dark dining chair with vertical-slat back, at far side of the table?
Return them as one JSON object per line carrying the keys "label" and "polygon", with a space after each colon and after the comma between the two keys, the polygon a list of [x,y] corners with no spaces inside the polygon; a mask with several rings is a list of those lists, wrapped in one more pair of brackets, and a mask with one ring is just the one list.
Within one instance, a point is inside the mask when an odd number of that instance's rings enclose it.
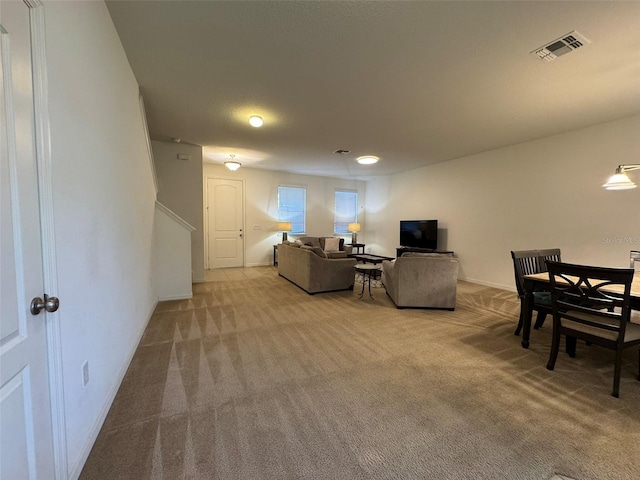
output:
{"label": "dark dining chair with vertical-slat back, at far side of the table", "polygon": [[[516,290],[520,299],[520,317],[518,318],[518,326],[515,335],[520,335],[524,323],[524,276],[533,273],[541,273],[547,271],[546,260],[560,260],[560,249],[553,248],[547,250],[517,250],[511,251],[511,259],[513,260],[513,272],[516,281]],[[534,292],[533,309],[538,312],[536,322],[533,326],[538,329],[542,326],[547,315],[551,314],[551,295],[549,292]]]}

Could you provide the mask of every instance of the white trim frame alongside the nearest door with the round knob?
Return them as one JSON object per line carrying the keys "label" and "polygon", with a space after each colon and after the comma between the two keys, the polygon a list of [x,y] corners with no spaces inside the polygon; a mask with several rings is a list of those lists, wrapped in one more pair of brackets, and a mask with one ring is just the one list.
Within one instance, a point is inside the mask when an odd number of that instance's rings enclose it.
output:
{"label": "white trim frame alongside the nearest door with the round knob", "polygon": [[[36,136],[36,163],[42,238],[42,271],[45,292],[57,296],[58,273],[53,214],[53,183],[49,128],[49,96],[45,45],[45,6],[42,0],[24,0],[30,9],[31,49],[33,65],[33,101]],[[44,293],[44,292],[43,292]],[[64,306],[64,299],[60,299]],[[59,314],[45,314],[47,356],[49,363],[49,393],[55,478],[68,478],[67,436],[62,381],[62,348]]]}

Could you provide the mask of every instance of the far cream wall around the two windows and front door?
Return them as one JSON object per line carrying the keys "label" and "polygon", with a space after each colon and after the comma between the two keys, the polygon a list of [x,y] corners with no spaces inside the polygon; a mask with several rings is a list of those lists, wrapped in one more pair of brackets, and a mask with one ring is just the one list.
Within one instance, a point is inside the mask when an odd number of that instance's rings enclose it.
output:
{"label": "far cream wall around the two windows and front door", "polygon": [[[204,181],[207,178],[244,180],[245,185],[245,265],[271,265],[273,245],[282,241],[277,230],[278,186],[300,186],[307,189],[307,235],[333,235],[334,203],[336,189],[358,191],[359,217],[366,230],[364,215],[365,183],[312,175],[296,175],[257,168],[242,167],[230,172],[222,165],[204,164]],[[205,198],[206,202],[206,198]],[[296,238],[289,235],[290,239]],[[351,234],[344,235],[351,241]],[[358,235],[359,242],[366,242],[366,235]]]}

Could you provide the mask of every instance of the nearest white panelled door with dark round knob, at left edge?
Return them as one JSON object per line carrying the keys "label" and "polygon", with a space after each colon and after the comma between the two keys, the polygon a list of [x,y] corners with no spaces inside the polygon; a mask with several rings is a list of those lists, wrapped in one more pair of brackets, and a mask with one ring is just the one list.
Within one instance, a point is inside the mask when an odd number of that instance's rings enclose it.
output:
{"label": "nearest white panelled door with dark round knob, at left edge", "polygon": [[0,478],[53,478],[29,9],[0,3]]}

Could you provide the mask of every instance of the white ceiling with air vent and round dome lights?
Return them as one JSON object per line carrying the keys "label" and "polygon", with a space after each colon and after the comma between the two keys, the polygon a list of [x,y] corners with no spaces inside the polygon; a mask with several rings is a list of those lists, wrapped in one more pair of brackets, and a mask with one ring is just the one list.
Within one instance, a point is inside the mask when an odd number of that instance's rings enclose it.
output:
{"label": "white ceiling with air vent and round dome lights", "polygon": [[[212,163],[364,179],[640,112],[638,1],[107,5],[152,138]],[[572,30],[591,43],[530,54]]]}

